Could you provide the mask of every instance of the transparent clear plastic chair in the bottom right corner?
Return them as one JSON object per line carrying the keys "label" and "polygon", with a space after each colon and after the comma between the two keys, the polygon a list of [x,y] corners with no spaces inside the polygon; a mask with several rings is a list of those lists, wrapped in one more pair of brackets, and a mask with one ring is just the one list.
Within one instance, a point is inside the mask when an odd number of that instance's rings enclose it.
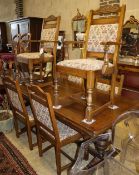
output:
{"label": "transparent clear plastic chair in the bottom right corner", "polygon": [[111,131],[82,143],[69,175],[137,175],[138,123],[139,110],[126,111],[115,120]]}

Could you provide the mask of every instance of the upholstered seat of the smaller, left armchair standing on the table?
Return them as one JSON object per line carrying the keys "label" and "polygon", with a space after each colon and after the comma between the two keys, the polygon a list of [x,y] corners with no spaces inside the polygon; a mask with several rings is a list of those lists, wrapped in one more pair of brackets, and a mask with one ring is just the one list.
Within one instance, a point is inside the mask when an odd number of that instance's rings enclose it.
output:
{"label": "upholstered seat of the smaller, left armchair standing on the table", "polygon": [[[40,52],[20,53],[17,55],[17,61],[21,63],[28,63],[28,60],[39,59],[40,57],[41,57]],[[52,58],[52,57],[53,55],[51,53],[44,53],[44,59]],[[45,61],[47,60],[45,59]]]}

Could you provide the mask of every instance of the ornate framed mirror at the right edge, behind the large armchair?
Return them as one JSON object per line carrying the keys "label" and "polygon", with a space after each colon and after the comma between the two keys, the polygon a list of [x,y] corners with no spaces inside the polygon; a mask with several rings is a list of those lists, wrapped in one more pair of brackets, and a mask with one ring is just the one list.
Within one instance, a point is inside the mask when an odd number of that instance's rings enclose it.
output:
{"label": "ornate framed mirror at the right edge, behind the large armchair", "polygon": [[134,16],[130,16],[123,26],[120,55],[139,56],[139,21]]}

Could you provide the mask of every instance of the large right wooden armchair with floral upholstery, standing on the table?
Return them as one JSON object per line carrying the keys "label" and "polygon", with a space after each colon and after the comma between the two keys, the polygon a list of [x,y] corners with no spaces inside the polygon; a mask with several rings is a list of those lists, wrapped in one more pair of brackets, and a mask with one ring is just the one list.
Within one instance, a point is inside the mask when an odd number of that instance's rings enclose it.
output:
{"label": "large right wooden armchair with floral upholstery, standing on the table", "polygon": [[[97,10],[90,10],[82,49],[83,59],[70,58],[57,63],[57,73],[80,77],[86,81],[86,123],[95,122],[93,115],[108,106],[111,108],[114,106],[117,62],[125,8],[125,5],[108,5]],[[99,75],[110,79],[110,100],[93,111],[92,94]]]}

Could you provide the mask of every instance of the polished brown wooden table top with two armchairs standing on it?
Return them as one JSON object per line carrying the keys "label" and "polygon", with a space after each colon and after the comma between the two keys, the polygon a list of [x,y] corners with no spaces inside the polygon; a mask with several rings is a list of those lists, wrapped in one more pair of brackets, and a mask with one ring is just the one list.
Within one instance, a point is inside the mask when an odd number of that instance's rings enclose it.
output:
{"label": "polished brown wooden table top with two armchairs standing on it", "polygon": [[[54,101],[54,86],[48,85],[43,87],[43,90],[49,92],[52,96],[52,100]],[[122,114],[123,112],[134,108],[137,104],[137,100],[129,99],[126,97],[117,97],[115,100],[115,105],[118,106],[118,109],[110,109],[106,108],[96,116],[94,119],[96,120],[93,124],[86,124],[82,120],[85,118],[85,102],[81,102],[83,100],[74,100],[71,98],[71,94],[76,94],[80,91],[79,88],[74,88],[69,85],[60,85],[59,86],[59,104],[62,105],[60,109],[54,109],[56,117],[75,128],[79,132],[84,132],[89,136],[97,136],[100,133],[105,132],[107,129],[111,128],[112,123],[116,120],[116,118]],[[93,94],[94,99],[97,98],[99,101],[99,96]],[[105,95],[104,95],[105,97]],[[101,99],[100,99],[101,101]]]}

